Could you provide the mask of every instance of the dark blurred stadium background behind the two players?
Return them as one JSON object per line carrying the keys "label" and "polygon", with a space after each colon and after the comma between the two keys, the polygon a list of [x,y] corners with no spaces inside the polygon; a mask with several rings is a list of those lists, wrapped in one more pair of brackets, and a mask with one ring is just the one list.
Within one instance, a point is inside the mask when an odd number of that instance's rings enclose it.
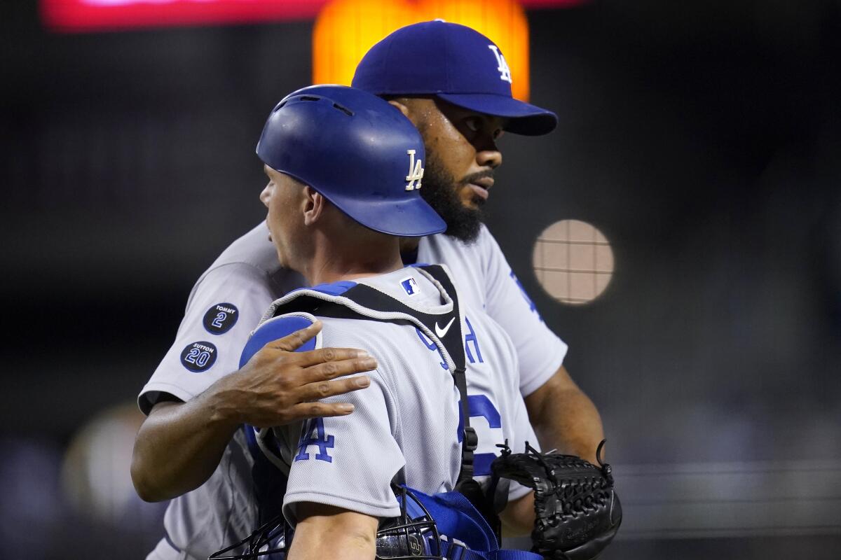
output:
{"label": "dark blurred stadium background behind the two players", "polygon": [[[56,35],[0,9],[4,557],[142,558],[161,506],[68,489],[125,491],[67,447],[110,410],[123,430],[82,441],[130,448],[194,280],[264,217],[254,145],[309,85],[312,24]],[[604,557],[837,557],[841,4],[528,15],[560,125],[501,141],[489,227],[605,421],[626,521]],[[584,306],[532,272],[568,218],[616,259]]]}

